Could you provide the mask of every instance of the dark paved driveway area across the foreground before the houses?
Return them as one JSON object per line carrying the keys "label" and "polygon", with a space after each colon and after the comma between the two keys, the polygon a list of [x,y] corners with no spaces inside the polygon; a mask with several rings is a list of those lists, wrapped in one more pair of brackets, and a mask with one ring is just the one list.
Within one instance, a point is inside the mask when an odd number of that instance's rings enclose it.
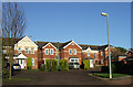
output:
{"label": "dark paved driveway area across the foreground before the houses", "polygon": [[130,85],[131,78],[120,80],[100,79],[90,76],[94,69],[71,69],[66,72],[21,70],[16,77],[30,78],[28,81],[8,81],[3,85]]}

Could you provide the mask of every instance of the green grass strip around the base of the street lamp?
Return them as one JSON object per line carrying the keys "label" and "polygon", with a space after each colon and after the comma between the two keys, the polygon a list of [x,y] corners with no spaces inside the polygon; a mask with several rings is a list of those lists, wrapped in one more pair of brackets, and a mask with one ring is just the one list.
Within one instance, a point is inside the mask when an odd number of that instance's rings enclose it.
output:
{"label": "green grass strip around the base of the street lamp", "polygon": [[[99,76],[99,77],[103,77],[103,78],[109,78],[110,74],[109,73],[93,73],[93,75]],[[116,77],[124,77],[124,76],[129,76],[126,74],[112,74],[113,78]]]}

